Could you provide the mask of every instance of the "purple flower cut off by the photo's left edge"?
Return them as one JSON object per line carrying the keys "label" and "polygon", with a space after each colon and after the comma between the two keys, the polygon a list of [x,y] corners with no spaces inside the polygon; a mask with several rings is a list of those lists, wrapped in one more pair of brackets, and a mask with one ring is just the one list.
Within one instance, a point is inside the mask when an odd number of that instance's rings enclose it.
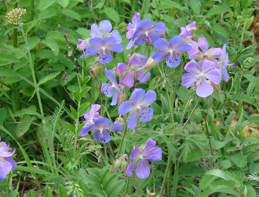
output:
{"label": "purple flower cut off by the photo's left edge", "polygon": [[[1,140],[1,138],[0,138]],[[15,153],[9,152],[8,150],[13,150],[9,148],[9,145],[6,145],[5,142],[0,143],[0,181],[6,179],[6,175],[16,168],[16,162],[11,158]]]}

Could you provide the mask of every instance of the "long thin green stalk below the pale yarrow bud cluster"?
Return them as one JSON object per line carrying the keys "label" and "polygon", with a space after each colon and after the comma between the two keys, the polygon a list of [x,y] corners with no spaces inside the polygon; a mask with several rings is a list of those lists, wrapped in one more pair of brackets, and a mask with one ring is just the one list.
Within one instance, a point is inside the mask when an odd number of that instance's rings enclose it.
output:
{"label": "long thin green stalk below the pale yarrow bud cluster", "polygon": [[[21,29],[22,35],[23,35],[24,40],[25,40],[25,44],[28,45],[27,35],[23,31],[22,24],[19,25],[19,28]],[[51,157],[52,157],[52,161],[53,161],[53,166],[55,168],[56,174],[58,174],[58,169],[57,169],[57,165],[56,165],[56,161],[55,161],[55,154],[54,154],[54,151],[53,151],[53,147],[51,146],[51,143],[50,143],[50,138],[49,138],[49,135],[48,135],[47,125],[46,125],[46,122],[44,120],[44,112],[43,112],[42,103],[41,103],[41,99],[40,99],[40,91],[39,91],[39,87],[37,85],[37,81],[36,81],[36,77],[35,77],[35,73],[34,73],[34,68],[33,68],[33,62],[32,62],[32,56],[31,56],[30,48],[27,48],[27,50],[28,50],[29,63],[30,63],[31,72],[32,72],[32,79],[33,79],[34,87],[35,87],[35,90],[36,90],[38,102],[39,102],[39,105],[40,105],[40,113],[41,113],[41,116],[42,116],[42,123],[43,123],[45,134],[46,134],[46,137],[47,137],[47,140],[48,140],[49,149],[50,149],[50,153],[51,153]]]}

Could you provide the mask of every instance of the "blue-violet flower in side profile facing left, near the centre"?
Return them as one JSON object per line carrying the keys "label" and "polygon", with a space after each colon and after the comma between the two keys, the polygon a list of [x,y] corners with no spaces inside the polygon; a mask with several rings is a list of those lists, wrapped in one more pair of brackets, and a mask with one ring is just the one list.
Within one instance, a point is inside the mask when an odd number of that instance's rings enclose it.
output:
{"label": "blue-violet flower in side profile facing left, near the centre", "polygon": [[[103,83],[101,90],[105,94],[106,97],[112,97],[111,105],[117,104],[117,91],[120,93],[120,88],[117,84],[116,78],[114,73],[111,70],[108,70],[105,68],[105,75],[111,81],[112,84],[109,83]],[[121,93],[120,93],[121,95]]]}

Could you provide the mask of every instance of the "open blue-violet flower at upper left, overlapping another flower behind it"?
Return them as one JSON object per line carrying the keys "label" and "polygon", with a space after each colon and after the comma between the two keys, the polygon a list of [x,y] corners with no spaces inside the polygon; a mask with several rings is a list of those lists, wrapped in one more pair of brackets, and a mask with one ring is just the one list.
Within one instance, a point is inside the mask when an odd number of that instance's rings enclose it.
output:
{"label": "open blue-violet flower at upper left, overlapping another flower behind it", "polygon": [[91,38],[89,43],[93,46],[90,46],[86,49],[86,54],[89,54],[88,57],[92,55],[98,55],[98,60],[102,64],[107,64],[112,61],[112,52],[120,53],[123,51],[122,44],[116,44],[115,37],[104,37],[101,38]]}

